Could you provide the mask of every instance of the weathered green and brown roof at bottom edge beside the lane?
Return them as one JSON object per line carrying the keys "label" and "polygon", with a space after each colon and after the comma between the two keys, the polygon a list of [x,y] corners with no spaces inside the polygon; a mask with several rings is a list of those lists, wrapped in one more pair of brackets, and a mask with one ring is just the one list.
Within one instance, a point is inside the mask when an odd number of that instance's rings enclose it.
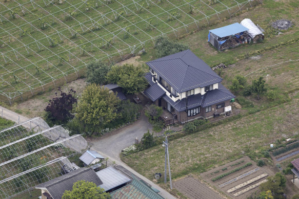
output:
{"label": "weathered green and brown roof at bottom edge beside the lane", "polygon": [[164,199],[145,183],[133,179],[132,183],[110,193],[112,199]]}

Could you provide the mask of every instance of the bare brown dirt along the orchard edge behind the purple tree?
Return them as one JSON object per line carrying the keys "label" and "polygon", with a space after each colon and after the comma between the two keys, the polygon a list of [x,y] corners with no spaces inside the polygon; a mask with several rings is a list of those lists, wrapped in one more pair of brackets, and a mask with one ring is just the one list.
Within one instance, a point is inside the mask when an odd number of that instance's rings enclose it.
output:
{"label": "bare brown dirt along the orchard edge behind the purple tree", "polygon": [[[85,89],[85,86],[85,79],[77,79],[63,85],[62,91],[69,92],[70,89],[73,89],[76,91],[76,96],[80,96]],[[48,105],[49,100],[56,97],[55,92],[57,92],[57,90],[37,95],[27,101],[14,104],[10,109],[29,118],[43,116],[44,108]]]}

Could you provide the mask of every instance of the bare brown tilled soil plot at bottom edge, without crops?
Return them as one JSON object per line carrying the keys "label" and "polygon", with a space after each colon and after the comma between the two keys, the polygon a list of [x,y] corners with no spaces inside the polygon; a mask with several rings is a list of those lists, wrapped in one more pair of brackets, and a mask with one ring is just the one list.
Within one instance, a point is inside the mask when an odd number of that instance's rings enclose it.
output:
{"label": "bare brown tilled soil plot at bottom edge, without crops", "polygon": [[209,186],[187,176],[173,183],[173,187],[190,199],[223,199],[224,197],[213,191]]}

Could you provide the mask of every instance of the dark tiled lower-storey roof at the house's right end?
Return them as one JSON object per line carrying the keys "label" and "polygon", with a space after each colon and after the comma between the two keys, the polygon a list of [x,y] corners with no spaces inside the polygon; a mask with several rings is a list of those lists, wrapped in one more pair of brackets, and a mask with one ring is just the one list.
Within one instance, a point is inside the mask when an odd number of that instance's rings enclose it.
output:
{"label": "dark tiled lower-storey roof at the house's right end", "polygon": [[207,107],[215,103],[230,100],[235,96],[226,89],[221,83],[218,83],[218,89],[207,92],[202,101],[202,107]]}

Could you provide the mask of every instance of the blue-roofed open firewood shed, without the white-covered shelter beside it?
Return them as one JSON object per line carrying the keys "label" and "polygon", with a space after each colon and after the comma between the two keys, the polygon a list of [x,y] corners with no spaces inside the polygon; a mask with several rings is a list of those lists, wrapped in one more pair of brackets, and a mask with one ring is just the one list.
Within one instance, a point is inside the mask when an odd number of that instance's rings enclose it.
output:
{"label": "blue-roofed open firewood shed, without the white-covered shelter beside it", "polygon": [[[239,23],[234,23],[221,28],[216,28],[209,31],[208,41],[217,49],[224,50],[238,46],[239,42],[235,38],[248,37],[248,28]],[[227,45],[224,43],[227,42]],[[226,48],[224,48],[224,46]]]}

